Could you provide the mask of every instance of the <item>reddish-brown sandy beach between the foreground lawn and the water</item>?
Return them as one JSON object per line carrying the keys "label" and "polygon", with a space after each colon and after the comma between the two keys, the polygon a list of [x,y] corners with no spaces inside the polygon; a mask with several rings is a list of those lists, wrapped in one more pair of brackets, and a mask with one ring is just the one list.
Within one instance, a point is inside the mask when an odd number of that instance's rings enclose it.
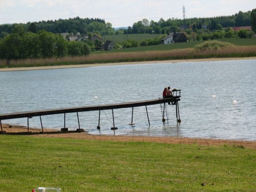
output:
{"label": "reddish-brown sandy beach between the foreground lawn and the water", "polygon": [[222,140],[222,139],[201,139],[201,138],[186,138],[186,137],[154,137],[154,136],[113,136],[113,135],[91,135],[87,132],[60,132],[53,129],[44,129],[41,133],[40,129],[29,129],[24,126],[14,126],[2,124],[3,131],[7,135],[28,135],[31,137],[59,137],[73,139],[87,139],[99,141],[119,141],[119,142],[157,142],[166,144],[197,144],[204,146],[221,146],[230,145],[241,148],[256,149],[256,141],[240,141],[240,140]]}

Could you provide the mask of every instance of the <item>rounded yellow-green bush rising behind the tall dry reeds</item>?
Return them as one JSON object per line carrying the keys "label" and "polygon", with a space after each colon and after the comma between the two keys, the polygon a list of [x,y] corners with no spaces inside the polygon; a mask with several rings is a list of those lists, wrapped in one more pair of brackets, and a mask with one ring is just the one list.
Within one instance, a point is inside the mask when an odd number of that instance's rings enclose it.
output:
{"label": "rounded yellow-green bush rising behind the tall dry reeds", "polygon": [[217,50],[219,48],[233,48],[235,47],[234,44],[228,43],[228,42],[221,42],[221,41],[205,41],[203,43],[200,43],[199,45],[196,45],[194,48],[197,51],[204,51],[204,50]]}

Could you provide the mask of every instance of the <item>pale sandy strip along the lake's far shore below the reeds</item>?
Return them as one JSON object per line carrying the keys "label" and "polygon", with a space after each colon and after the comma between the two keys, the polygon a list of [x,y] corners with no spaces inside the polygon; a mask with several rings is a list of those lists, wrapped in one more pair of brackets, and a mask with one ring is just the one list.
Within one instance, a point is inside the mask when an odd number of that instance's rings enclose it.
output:
{"label": "pale sandy strip along the lake's far shore below the reeds", "polygon": [[132,65],[132,64],[150,64],[150,63],[178,63],[178,62],[202,62],[202,61],[217,61],[217,60],[256,60],[256,57],[244,57],[244,58],[207,58],[207,59],[189,59],[189,60],[154,60],[154,61],[118,62],[118,63],[95,63],[95,64],[79,64],[79,65],[59,65],[59,66],[44,66],[44,67],[15,67],[15,68],[0,68],[0,72],[6,72],[6,71],[26,71],[26,70],[44,70],[44,69],[62,69],[62,68],[78,68],[78,67],[97,67],[97,66],[109,66],[109,65]]}

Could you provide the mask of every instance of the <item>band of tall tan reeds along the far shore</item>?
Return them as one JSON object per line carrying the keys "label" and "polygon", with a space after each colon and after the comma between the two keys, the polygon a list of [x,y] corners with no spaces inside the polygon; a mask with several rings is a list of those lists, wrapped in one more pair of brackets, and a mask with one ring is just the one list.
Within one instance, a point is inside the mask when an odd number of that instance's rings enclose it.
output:
{"label": "band of tall tan reeds along the far shore", "polygon": [[11,60],[9,65],[7,65],[6,60],[0,60],[0,68],[253,56],[256,56],[256,46],[232,46],[210,50],[183,48],[141,52],[104,52],[101,54],[91,54],[87,57]]}

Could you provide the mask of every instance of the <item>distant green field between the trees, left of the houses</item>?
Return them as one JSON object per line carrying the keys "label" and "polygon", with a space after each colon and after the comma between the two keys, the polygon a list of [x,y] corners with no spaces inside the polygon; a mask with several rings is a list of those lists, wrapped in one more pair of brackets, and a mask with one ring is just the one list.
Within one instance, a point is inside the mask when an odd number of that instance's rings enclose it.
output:
{"label": "distant green field between the trees, left of the houses", "polygon": [[129,39],[141,41],[143,39],[158,38],[159,36],[162,36],[162,34],[128,34],[128,35],[123,34],[123,35],[102,36],[102,39],[104,41],[111,40],[116,43],[122,43]]}

